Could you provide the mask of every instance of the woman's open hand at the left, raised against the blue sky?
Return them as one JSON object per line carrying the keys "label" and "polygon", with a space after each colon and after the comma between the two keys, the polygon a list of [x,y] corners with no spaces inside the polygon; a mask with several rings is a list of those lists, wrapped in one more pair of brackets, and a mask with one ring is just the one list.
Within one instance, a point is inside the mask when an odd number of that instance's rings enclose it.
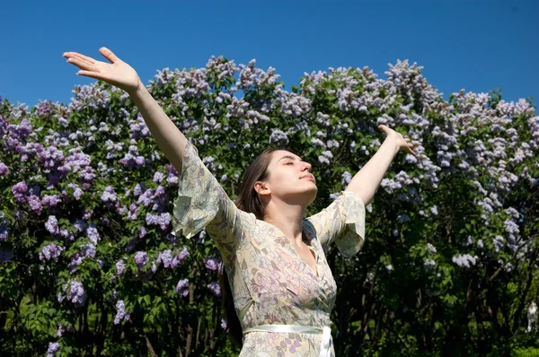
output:
{"label": "woman's open hand at the left, raised against the blue sky", "polygon": [[139,87],[144,86],[140,82],[137,72],[130,65],[116,57],[109,48],[100,48],[99,52],[110,61],[110,64],[97,61],[92,57],[87,57],[77,52],[66,52],[63,57],[67,58],[68,63],[81,69],[76,74],[110,83],[127,91],[129,95],[135,94]]}

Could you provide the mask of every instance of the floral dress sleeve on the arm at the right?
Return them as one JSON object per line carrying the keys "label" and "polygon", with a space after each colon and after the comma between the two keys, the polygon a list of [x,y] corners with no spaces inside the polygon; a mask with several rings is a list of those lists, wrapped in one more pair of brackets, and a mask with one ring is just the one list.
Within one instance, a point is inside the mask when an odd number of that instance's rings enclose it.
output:
{"label": "floral dress sleeve on the arm at the right", "polygon": [[331,205],[307,217],[325,251],[334,241],[344,257],[355,256],[365,242],[365,205],[359,196],[343,191]]}

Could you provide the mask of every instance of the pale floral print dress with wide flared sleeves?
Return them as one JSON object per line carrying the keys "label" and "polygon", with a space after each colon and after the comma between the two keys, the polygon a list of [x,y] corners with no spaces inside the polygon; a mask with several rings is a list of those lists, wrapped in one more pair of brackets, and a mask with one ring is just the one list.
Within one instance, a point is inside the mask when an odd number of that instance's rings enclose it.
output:
{"label": "pale floral print dress with wide flared sleeves", "polygon": [[[189,142],[173,215],[175,235],[190,238],[206,227],[214,239],[244,332],[262,325],[330,327],[337,287],[324,250],[334,242],[343,256],[352,257],[365,237],[365,206],[344,191],[304,220],[314,271],[277,227],[234,205]],[[243,336],[240,356],[319,356],[322,339],[320,333],[250,332]],[[333,356],[331,336],[329,342],[327,355]]]}

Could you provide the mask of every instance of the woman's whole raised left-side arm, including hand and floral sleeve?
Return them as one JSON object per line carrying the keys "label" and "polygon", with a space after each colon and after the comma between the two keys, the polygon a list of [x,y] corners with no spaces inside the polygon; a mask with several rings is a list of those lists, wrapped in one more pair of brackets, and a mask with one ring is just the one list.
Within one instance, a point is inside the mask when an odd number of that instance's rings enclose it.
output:
{"label": "woman's whole raised left-side arm, including hand and floral sleeve", "polygon": [[235,248],[243,239],[244,226],[252,224],[253,214],[237,209],[225,190],[199,158],[197,148],[159,107],[146,90],[137,72],[108,48],[100,48],[110,63],[76,52],[66,52],[67,62],[78,66],[77,74],[110,83],[127,91],[146,121],[155,142],[178,170],[178,196],[174,200],[173,234],[190,238],[204,227],[216,242],[225,262],[233,261]]}

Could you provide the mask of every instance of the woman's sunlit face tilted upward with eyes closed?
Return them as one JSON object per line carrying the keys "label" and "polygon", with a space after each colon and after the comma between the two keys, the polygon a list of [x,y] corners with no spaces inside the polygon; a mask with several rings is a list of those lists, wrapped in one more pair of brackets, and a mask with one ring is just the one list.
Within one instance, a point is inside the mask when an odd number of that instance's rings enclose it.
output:
{"label": "woman's sunlit face tilted upward with eyes closed", "polygon": [[311,169],[310,163],[302,161],[292,152],[272,152],[268,177],[263,182],[257,182],[256,185],[260,185],[257,191],[261,196],[290,204],[310,205],[318,192]]}

